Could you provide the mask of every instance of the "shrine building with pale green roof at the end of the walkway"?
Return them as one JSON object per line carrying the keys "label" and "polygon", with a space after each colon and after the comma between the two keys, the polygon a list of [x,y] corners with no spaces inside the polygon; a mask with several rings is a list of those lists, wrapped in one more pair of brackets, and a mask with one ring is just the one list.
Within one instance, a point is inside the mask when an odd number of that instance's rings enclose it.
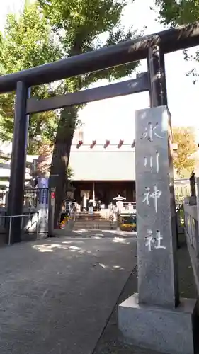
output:
{"label": "shrine building with pale green roof at the end of the walkway", "polygon": [[75,134],[69,159],[74,198],[100,201],[106,208],[118,194],[135,202],[135,142],[84,141]]}

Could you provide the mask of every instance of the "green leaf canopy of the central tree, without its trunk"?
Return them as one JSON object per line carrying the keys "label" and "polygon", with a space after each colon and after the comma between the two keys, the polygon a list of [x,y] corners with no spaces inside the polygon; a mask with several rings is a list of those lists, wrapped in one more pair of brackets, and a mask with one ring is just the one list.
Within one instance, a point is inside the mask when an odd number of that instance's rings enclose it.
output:
{"label": "green leaf canopy of the central tree, without its trunk", "polygon": [[[127,0],[38,0],[59,38],[63,55],[72,56],[129,40],[137,30],[121,25]],[[67,90],[89,86],[99,79],[120,79],[129,75],[137,64],[82,75],[67,81]]]}

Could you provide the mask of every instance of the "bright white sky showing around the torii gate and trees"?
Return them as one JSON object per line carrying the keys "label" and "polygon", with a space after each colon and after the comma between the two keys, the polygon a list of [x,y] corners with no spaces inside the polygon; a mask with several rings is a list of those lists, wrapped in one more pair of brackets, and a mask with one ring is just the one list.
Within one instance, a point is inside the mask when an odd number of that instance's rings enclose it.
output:
{"label": "bright white sky showing around the torii gate and trees", "polygon": [[[1,4],[0,28],[4,26],[4,19],[8,11],[18,11],[23,5],[23,0],[6,0]],[[131,0],[123,17],[123,24],[135,28],[147,26],[145,34],[163,30],[163,26],[155,21],[156,14],[150,10],[153,0]],[[197,47],[199,49],[199,47]],[[195,52],[195,48],[191,50]],[[183,60],[183,53],[175,52],[166,55],[166,83],[173,125],[192,125],[199,131],[199,83],[193,85],[191,77],[186,72],[196,66],[195,63]],[[199,69],[199,67],[198,67]],[[140,63],[138,72],[147,71],[146,61]],[[135,75],[132,75],[132,77]],[[106,84],[98,83],[96,86]],[[84,139],[112,142],[125,139],[130,142],[134,138],[135,110],[149,106],[149,94],[112,98],[106,101],[90,103],[80,113],[84,123]],[[198,135],[199,138],[199,135]]]}

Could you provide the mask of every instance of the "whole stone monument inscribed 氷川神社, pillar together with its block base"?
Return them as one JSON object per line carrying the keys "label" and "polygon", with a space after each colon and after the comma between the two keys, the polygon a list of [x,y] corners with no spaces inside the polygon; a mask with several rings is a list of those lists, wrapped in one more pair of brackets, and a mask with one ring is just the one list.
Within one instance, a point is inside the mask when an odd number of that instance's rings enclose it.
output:
{"label": "whole stone monument inscribed \u6c37\u5ddd\u795e\u793e, pillar together with its block base", "polygon": [[135,117],[138,294],[120,304],[125,341],[193,354],[195,299],[179,299],[171,118],[165,106]]}

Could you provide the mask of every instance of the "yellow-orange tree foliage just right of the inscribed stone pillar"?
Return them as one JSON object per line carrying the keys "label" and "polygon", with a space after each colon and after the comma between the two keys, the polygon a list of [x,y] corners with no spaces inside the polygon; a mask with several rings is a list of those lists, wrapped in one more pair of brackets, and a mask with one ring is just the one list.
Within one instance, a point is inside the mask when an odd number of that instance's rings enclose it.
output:
{"label": "yellow-orange tree foliage just right of the inscribed stone pillar", "polygon": [[178,145],[174,154],[174,168],[181,178],[189,178],[195,168],[195,134],[192,127],[174,127],[173,143]]}

